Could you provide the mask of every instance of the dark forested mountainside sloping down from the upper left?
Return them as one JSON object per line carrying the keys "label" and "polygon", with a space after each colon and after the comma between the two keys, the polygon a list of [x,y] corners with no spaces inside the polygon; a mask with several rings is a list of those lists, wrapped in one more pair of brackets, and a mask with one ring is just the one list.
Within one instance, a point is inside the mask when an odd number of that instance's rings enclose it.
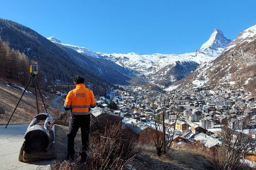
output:
{"label": "dark forested mountainside sloping down from the upper left", "polygon": [[[63,48],[14,21],[0,19],[0,37],[14,50],[19,50],[30,60],[37,61],[42,76],[48,83],[55,83],[57,80],[72,82],[72,77],[78,74],[84,75],[87,82],[93,84],[103,82],[127,84],[126,80],[130,80],[118,70],[109,69],[103,62],[98,62],[97,67],[93,67],[90,66],[91,58],[83,56],[80,57],[83,63],[80,63]],[[112,77],[113,73],[117,75],[115,78]]]}

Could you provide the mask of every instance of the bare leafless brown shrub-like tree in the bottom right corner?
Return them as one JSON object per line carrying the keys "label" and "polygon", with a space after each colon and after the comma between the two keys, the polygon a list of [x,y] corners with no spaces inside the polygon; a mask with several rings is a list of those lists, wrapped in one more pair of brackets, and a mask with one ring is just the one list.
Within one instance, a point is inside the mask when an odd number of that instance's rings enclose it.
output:
{"label": "bare leafless brown shrub-like tree in the bottom right corner", "polygon": [[248,108],[240,118],[227,114],[222,121],[222,147],[219,151],[219,166],[224,170],[232,170],[242,165],[245,154],[255,151],[256,141],[252,138],[252,120],[248,115]]}

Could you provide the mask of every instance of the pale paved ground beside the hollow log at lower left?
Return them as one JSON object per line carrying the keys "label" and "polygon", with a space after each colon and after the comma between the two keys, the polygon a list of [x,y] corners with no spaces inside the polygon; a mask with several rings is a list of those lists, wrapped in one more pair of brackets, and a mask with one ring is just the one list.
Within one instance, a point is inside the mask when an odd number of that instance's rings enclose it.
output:
{"label": "pale paved ground beside the hollow log at lower left", "polygon": [[20,162],[19,151],[24,142],[24,134],[29,124],[0,125],[0,169],[35,170],[38,167],[48,169],[52,161]]}

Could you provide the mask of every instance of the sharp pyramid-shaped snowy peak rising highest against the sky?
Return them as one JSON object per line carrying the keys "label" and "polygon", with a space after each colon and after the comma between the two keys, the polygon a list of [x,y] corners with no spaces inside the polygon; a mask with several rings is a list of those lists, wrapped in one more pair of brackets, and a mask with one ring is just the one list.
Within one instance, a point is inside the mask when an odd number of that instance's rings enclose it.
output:
{"label": "sharp pyramid-shaped snowy peak rising highest against the sky", "polygon": [[[200,51],[205,51],[211,56],[217,57],[230,42],[231,40],[227,39],[220,29],[214,28],[210,38],[201,46]],[[212,50],[215,50],[214,54]],[[216,50],[220,50],[220,53],[216,53]]]}

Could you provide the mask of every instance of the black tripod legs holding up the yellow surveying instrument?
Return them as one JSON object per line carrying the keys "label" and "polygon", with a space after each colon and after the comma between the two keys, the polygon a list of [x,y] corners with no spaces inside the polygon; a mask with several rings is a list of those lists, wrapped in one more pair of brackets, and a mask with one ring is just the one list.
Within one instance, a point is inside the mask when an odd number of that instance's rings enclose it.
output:
{"label": "black tripod legs holding up the yellow surveying instrument", "polygon": [[[40,88],[39,88],[39,84],[38,84],[38,82],[37,82],[37,77],[36,77],[36,75],[37,75],[37,74],[31,74],[31,77],[30,77],[30,79],[29,79],[29,83],[30,83],[31,79],[33,78],[33,79],[34,79],[34,86],[35,86],[35,98],[36,98],[36,100],[37,100],[37,86],[38,86],[39,93],[40,93],[41,98],[42,98],[42,101],[43,101],[43,103],[44,103],[45,111],[46,111],[46,113],[48,113],[47,110],[46,110],[46,106],[45,106],[45,102],[44,102],[44,99],[43,99],[41,90],[40,90]],[[24,95],[24,93],[25,93],[27,87],[29,86],[29,83],[27,83],[27,86],[26,86],[26,88],[24,89],[24,91],[23,91],[23,93],[22,93],[22,95],[21,95],[21,97],[20,97],[20,99],[19,99],[19,102],[20,102],[22,96]],[[36,86],[36,85],[37,85],[37,86]],[[14,110],[13,110],[13,112],[12,112],[12,115],[11,115],[11,118],[12,118],[12,116],[13,116],[13,114],[14,114],[16,108],[18,107],[19,102],[18,102],[18,104],[16,105],[16,107],[14,108]],[[37,100],[37,114],[39,114],[38,100]],[[47,116],[48,116],[48,115],[47,115]],[[8,121],[8,123],[6,124],[6,127],[5,127],[5,128],[7,128],[7,126],[8,126],[8,124],[9,124],[11,118],[9,119],[9,121]]]}

